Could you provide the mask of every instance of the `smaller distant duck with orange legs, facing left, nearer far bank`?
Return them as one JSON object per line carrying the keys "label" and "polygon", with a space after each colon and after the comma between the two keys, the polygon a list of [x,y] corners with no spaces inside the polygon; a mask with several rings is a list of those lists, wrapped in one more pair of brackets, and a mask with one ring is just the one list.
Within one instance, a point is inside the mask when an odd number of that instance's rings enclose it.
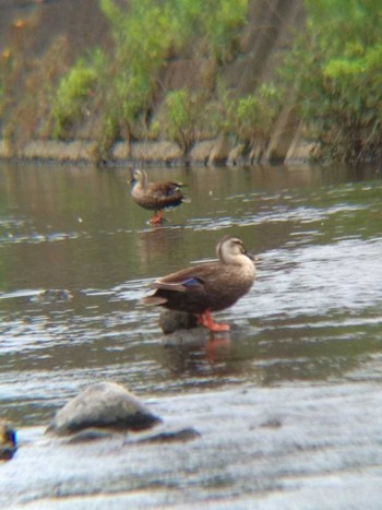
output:
{"label": "smaller distant duck with orange legs, facing left, nearer far bank", "polygon": [[180,182],[148,182],[144,170],[134,169],[130,183],[132,183],[131,195],[143,209],[154,211],[151,223],[158,225],[164,222],[164,209],[176,207],[182,202],[189,202],[180,188]]}

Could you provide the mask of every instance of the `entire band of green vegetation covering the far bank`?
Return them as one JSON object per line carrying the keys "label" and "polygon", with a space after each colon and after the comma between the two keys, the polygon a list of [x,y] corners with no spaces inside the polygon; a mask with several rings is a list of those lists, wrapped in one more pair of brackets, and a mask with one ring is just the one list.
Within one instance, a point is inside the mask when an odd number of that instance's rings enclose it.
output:
{"label": "entire band of green vegetation covering the far bank", "polygon": [[[31,60],[19,31],[0,56],[1,137],[14,146],[87,138],[97,141],[100,163],[118,140],[171,139],[187,155],[196,141],[223,133],[261,154],[282,105],[293,103],[322,158],[381,155],[379,0],[306,0],[306,31],[273,82],[241,96],[224,76],[240,52],[248,0],[98,2],[108,45],[73,58],[58,36]],[[168,70],[181,61],[195,73],[179,85]]]}

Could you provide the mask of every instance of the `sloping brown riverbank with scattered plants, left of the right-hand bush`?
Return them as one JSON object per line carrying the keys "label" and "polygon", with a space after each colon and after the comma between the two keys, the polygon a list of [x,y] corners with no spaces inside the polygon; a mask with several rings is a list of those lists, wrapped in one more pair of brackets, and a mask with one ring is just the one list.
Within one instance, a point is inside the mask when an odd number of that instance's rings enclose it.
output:
{"label": "sloping brown riverbank with scattered plants, left of the right-hand bush", "polygon": [[[199,13],[204,22],[196,16],[184,40],[172,12],[167,20],[172,36],[159,49],[166,29],[155,37],[156,25],[147,25],[147,15],[141,20],[134,9],[117,15],[97,2],[70,0],[64,7],[44,2],[24,15],[7,11],[7,36],[0,40],[0,139],[12,146],[0,142],[0,157],[142,165],[307,161],[305,154],[288,154],[300,131],[296,98],[290,94],[280,100],[282,90],[272,82],[295,34],[303,29],[303,2],[244,3],[240,11],[232,2],[227,19],[212,16],[206,26],[206,14]],[[155,2],[150,9],[148,19],[155,19]],[[192,23],[190,13],[183,15],[181,24]],[[141,37],[126,47],[123,38],[115,40],[123,25],[116,25],[117,19],[144,26],[151,34],[148,50]],[[216,39],[219,33],[224,37]],[[182,39],[178,46],[177,37]],[[130,52],[131,47],[136,49]],[[104,57],[98,61],[95,55]],[[112,63],[118,55],[122,66]],[[153,55],[160,57],[153,62]],[[123,75],[123,69],[140,71]]]}

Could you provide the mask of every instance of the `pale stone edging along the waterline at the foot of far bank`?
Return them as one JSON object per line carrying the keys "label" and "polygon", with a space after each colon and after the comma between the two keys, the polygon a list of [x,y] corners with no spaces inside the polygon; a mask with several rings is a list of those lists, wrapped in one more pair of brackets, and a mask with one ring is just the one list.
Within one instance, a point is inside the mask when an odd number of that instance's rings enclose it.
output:
{"label": "pale stone edging along the waterline at the foot of far bank", "polygon": [[[282,142],[280,142],[282,143]],[[284,143],[284,142],[283,142]],[[13,149],[7,141],[0,140],[0,159],[15,159],[23,162],[58,162],[95,163],[94,153],[97,142],[76,140],[38,141],[32,140],[23,147]],[[273,150],[278,151],[275,163],[306,163],[317,150],[313,142],[307,142],[297,134],[289,145],[282,147],[275,140]],[[278,147],[278,149],[277,149]],[[105,164],[111,165],[254,165],[273,161],[272,157],[256,157],[254,153],[244,154],[243,147],[229,140],[207,140],[194,145],[188,156],[180,147],[169,141],[162,142],[118,142],[110,152],[110,158]]]}

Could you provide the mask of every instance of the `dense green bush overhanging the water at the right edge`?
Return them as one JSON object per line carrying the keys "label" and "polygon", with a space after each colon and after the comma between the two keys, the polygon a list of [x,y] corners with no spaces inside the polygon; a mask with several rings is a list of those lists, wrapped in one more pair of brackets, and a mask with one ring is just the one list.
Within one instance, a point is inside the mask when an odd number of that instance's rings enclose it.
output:
{"label": "dense green bush overhanging the water at the right edge", "polygon": [[283,76],[302,118],[331,159],[359,161],[381,151],[382,4],[378,0],[307,0],[307,32]]}

